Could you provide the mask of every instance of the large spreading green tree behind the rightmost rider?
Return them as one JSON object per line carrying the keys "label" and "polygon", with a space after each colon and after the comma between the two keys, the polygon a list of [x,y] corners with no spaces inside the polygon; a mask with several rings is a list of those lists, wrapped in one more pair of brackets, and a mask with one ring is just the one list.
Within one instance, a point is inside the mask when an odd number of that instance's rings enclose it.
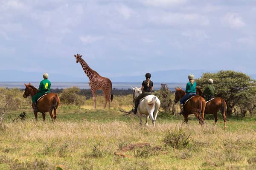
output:
{"label": "large spreading green tree behind the rightmost rider", "polygon": [[253,108],[256,82],[244,73],[236,71],[219,71],[218,73],[203,73],[200,79],[196,79],[197,85],[204,89],[207,80],[213,79],[216,96],[224,98],[227,103],[227,115],[237,113],[237,109],[245,115]]}

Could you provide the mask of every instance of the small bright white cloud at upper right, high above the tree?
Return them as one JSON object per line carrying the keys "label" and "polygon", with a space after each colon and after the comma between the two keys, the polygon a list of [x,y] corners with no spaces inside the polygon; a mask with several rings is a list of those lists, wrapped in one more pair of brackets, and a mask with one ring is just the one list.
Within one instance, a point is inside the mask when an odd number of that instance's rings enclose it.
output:
{"label": "small bright white cloud at upper right, high above the tree", "polygon": [[242,20],[242,17],[240,17],[236,13],[227,13],[223,18],[221,18],[223,23],[227,23],[230,28],[243,28],[245,26],[244,21]]}

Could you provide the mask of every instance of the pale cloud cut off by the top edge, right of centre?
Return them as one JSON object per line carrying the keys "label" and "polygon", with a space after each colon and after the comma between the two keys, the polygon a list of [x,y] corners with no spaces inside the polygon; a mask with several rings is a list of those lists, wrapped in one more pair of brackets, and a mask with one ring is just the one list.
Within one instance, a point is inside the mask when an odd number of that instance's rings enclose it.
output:
{"label": "pale cloud cut off by the top edge, right of centre", "polygon": [[148,6],[156,7],[171,7],[186,3],[186,0],[143,0],[143,3]]}

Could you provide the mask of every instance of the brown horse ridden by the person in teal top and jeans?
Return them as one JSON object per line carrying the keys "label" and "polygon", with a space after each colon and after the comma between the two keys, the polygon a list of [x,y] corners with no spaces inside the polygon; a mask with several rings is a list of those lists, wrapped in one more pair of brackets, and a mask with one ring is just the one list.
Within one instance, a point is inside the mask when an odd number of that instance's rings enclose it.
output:
{"label": "brown horse ridden by the person in teal top and jeans", "polygon": [[[181,88],[175,88],[175,103],[180,101],[180,99],[185,96],[185,91]],[[199,123],[202,124],[204,122],[204,109],[205,109],[205,100],[201,96],[194,96],[186,105],[184,105],[184,122],[188,122],[189,114],[194,114],[195,117],[199,120]],[[202,113],[202,117],[200,117],[200,113]]]}

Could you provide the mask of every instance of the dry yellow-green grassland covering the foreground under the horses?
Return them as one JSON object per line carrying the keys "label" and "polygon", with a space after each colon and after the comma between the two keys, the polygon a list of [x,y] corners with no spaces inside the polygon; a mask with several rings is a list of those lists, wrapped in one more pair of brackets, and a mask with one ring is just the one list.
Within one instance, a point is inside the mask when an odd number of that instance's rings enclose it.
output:
{"label": "dry yellow-green grassland covering the foreground under the horses", "polygon": [[[3,89],[2,89],[3,90]],[[61,104],[52,123],[49,113],[35,121],[30,98],[13,90],[20,106],[6,108],[0,129],[1,170],[253,170],[256,169],[256,117],[228,117],[227,130],[207,115],[201,126],[194,115],[159,113],[156,127],[140,125],[132,95],[114,96],[103,109],[103,96],[82,105]],[[178,108],[178,105],[176,106]],[[25,112],[26,117],[20,117]],[[145,118],[143,119],[145,122]]]}

